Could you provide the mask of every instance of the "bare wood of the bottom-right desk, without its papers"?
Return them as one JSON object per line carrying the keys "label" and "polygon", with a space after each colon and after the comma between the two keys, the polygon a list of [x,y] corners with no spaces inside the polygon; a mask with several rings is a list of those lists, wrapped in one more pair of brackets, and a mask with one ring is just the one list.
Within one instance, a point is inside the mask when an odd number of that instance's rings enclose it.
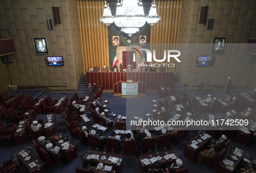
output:
{"label": "bare wood of the bottom-right desk, without its papers", "polygon": [[227,154],[225,154],[225,156],[220,160],[220,162],[218,163],[217,166],[217,173],[233,173],[234,171],[226,168],[226,165],[223,163],[223,160],[225,160],[226,158],[228,160],[231,160],[234,162],[234,170],[236,169],[237,165],[240,163],[240,161],[243,159],[245,152],[243,151],[243,154],[241,157],[237,156],[237,160],[233,160],[230,158],[230,156],[235,155],[233,154],[233,151],[235,150],[236,147],[233,147]]}

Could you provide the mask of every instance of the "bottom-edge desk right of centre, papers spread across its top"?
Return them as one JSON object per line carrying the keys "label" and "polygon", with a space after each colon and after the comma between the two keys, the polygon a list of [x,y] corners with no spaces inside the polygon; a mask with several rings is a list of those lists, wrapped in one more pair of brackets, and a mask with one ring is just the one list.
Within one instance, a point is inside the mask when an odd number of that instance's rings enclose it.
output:
{"label": "bottom-edge desk right of centre, papers spread across its top", "polygon": [[139,156],[139,170],[141,173],[145,173],[146,168],[152,166],[156,161],[159,161],[162,167],[172,165],[172,163],[175,163],[175,160],[178,158],[178,155],[172,150],[143,154]]}

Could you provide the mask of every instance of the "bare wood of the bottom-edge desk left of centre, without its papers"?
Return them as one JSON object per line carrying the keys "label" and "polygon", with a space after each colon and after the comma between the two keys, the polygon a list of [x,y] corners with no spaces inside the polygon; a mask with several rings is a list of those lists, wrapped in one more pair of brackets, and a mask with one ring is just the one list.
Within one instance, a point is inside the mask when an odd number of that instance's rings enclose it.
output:
{"label": "bare wood of the bottom-edge desk left of centre, without its papers", "polygon": [[[88,155],[91,154],[97,154],[99,155],[98,160],[95,159],[87,159]],[[101,156],[106,156],[106,159],[102,160]],[[117,164],[111,163],[109,157],[117,157],[119,158]],[[119,154],[112,154],[112,153],[105,153],[102,151],[95,151],[95,150],[87,150],[87,153],[84,155],[83,160],[88,160],[90,164],[98,164],[98,163],[103,163],[104,165],[112,166],[113,170],[116,170],[117,173],[122,173],[123,171],[123,156]]]}

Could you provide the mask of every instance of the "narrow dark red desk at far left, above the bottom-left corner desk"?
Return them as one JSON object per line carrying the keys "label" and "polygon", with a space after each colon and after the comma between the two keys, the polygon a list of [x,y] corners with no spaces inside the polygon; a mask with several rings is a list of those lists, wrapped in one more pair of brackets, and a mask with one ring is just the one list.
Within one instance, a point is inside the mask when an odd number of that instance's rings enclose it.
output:
{"label": "narrow dark red desk at far left, above the bottom-left corner desk", "polygon": [[[23,122],[23,123],[21,123]],[[22,127],[17,127],[15,132],[14,132],[14,139],[16,144],[24,144],[27,143],[27,135],[26,135],[26,124],[27,124],[27,119],[21,119],[18,122],[18,126],[22,125]],[[22,129],[21,131],[17,132],[18,129]]]}

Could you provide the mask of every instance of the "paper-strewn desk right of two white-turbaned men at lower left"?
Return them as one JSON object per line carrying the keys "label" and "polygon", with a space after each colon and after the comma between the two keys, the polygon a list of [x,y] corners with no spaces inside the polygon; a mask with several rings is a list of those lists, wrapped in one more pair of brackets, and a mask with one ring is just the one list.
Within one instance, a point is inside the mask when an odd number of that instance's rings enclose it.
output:
{"label": "paper-strewn desk right of two white-turbaned men at lower left", "polygon": [[69,139],[65,138],[63,135],[61,135],[60,132],[50,136],[49,138],[53,144],[62,148],[62,151],[65,152],[67,162],[74,160],[78,156],[76,144],[70,141]]}

